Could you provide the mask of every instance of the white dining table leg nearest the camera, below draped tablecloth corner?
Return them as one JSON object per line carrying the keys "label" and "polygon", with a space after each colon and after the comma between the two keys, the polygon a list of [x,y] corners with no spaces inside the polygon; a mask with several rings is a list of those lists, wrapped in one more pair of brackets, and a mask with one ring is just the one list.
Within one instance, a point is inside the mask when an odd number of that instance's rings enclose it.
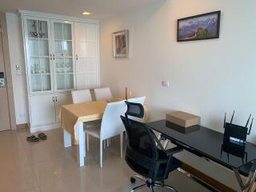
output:
{"label": "white dining table leg nearest the camera, below draped tablecloth corner", "polygon": [[75,126],[78,126],[78,138],[79,138],[79,145],[77,146],[77,159],[79,166],[85,166],[85,138],[83,134],[83,122],[79,122]]}

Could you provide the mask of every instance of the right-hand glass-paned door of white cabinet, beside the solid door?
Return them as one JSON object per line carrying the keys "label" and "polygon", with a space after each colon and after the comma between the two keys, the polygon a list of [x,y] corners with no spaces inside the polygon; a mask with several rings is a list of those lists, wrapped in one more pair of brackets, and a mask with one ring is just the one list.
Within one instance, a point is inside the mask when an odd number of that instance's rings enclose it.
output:
{"label": "right-hand glass-paned door of white cabinet, beside the solid door", "polygon": [[73,24],[53,21],[55,90],[74,89]]}

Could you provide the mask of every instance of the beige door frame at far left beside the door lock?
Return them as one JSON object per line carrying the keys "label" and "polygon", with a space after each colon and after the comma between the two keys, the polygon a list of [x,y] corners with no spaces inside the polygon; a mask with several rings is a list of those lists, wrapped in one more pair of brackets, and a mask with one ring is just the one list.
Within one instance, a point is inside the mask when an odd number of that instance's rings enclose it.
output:
{"label": "beige door frame at far left beside the door lock", "polygon": [[6,72],[6,87],[7,87],[7,98],[9,105],[9,116],[10,116],[10,129],[16,130],[16,115],[15,115],[15,106],[14,106],[14,91],[13,91],[13,82],[11,76],[11,65],[10,65],[10,50],[8,42],[8,33],[7,33],[7,24],[6,24],[6,14],[0,13],[0,26],[1,31],[0,35],[2,38],[2,43],[0,44],[3,54],[3,62]]}

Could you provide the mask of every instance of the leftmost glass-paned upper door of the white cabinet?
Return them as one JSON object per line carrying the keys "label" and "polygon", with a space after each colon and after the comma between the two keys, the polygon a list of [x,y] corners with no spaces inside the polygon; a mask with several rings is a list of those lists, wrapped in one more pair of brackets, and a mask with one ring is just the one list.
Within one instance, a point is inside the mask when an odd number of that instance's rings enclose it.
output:
{"label": "leftmost glass-paned upper door of the white cabinet", "polygon": [[26,18],[25,23],[30,92],[51,92],[50,22],[40,18]]}

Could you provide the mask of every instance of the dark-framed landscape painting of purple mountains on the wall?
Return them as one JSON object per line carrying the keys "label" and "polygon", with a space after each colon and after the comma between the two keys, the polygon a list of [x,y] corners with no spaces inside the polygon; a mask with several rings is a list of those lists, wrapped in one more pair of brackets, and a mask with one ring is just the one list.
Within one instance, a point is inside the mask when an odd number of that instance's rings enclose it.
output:
{"label": "dark-framed landscape painting of purple mountains on the wall", "polygon": [[221,11],[178,19],[178,42],[219,38]]}

